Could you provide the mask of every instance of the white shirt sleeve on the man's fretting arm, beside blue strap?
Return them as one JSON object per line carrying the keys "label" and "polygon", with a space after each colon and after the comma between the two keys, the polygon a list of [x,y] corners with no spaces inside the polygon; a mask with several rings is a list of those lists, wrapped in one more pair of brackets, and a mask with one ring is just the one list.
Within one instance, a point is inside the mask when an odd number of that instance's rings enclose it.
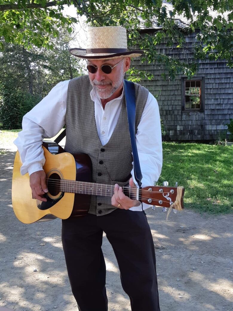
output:
{"label": "white shirt sleeve on the man's fretting arm, beside blue strap", "polygon": [[[136,145],[143,176],[142,187],[153,186],[154,181],[158,181],[162,169],[162,133],[158,103],[151,93],[148,94],[137,128]],[[134,177],[134,169],[132,169],[131,175],[138,187]],[[143,203],[143,209],[148,207],[151,205]],[[139,205],[131,207],[130,210],[141,211],[142,207]]]}

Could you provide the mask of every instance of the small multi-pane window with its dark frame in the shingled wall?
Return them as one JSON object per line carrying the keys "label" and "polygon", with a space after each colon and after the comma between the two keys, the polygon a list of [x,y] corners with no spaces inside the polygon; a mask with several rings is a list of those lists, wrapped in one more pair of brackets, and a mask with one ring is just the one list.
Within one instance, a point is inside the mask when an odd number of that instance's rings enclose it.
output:
{"label": "small multi-pane window with its dark frame in the shingled wall", "polygon": [[204,78],[188,80],[182,78],[182,110],[203,111],[204,110]]}

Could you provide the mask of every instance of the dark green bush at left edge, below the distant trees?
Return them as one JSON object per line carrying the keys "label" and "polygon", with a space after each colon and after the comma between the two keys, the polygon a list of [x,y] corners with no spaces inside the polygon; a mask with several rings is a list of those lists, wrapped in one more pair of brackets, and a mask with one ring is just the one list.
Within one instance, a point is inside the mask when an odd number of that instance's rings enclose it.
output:
{"label": "dark green bush at left edge, below the distant trees", "polygon": [[38,102],[38,96],[16,90],[4,89],[0,95],[0,122],[2,129],[18,129],[22,127],[23,116]]}

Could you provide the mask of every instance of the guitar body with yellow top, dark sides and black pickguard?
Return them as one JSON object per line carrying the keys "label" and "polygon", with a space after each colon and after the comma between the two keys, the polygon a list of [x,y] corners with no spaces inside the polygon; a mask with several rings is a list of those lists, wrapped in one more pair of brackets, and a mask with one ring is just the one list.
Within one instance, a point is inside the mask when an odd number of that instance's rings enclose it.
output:
{"label": "guitar body with yellow top, dark sides and black pickguard", "polygon": [[73,156],[53,142],[43,142],[43,150],[46,159],[43,169],[47,175],[49,190],[46,194],[47,202],[32,198],[29,174],[21,175],[22,162],[19,152],[16,152],[12,179],[12,205],[16,217],[21,222],[30,224],[57,217],[66,219],[70,216],[86,215],[90,206],[90,195],[61,192],[59,187],[54,186],[56,183],[51,183],[50,186],[49,180],[92,182],[92,164],[89,156],[86,154]]}

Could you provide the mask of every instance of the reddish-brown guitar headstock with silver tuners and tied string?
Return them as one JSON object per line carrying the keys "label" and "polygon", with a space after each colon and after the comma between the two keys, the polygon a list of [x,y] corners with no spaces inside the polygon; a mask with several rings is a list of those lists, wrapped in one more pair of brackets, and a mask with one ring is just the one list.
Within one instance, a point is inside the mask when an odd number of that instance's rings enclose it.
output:
{"label": "reddish-brown guitar headstock with silver tuners and tied string", "polygon": [[174,210],[184,209],[184,187],[168,187],[168,182],[163,182],[163,186],[147,186],[141,189],[140,201],[153,205],[155,207],[163,207],[163,211],[167,208]]}

